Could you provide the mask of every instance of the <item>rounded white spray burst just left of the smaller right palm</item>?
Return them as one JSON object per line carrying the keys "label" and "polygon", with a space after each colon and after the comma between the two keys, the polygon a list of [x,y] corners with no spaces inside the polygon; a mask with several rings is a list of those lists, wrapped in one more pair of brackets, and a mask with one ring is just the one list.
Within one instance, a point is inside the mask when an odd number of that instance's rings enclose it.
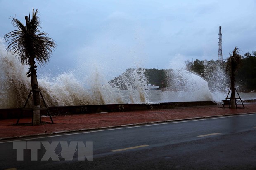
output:
{"label": "rounded white spray burst just left of the smaller right palm", "polygon": [[168,92],[164,94],[163,100],[169,98],[171,102],[216,101],[218,103],[223,100],[224,95],[220,95],[218,91],[211,91],[206,80],[184,68],[167,70],[166,75],[169,77]]}

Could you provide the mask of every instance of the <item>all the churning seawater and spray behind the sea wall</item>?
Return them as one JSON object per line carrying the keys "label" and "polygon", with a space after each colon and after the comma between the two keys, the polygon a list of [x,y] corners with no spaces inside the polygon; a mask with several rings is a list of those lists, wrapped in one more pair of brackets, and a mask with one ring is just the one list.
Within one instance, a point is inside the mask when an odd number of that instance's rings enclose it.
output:
{"label": "all the churning seawater and spray behind the sea wall", "polygon": [[[8,54],[5,45],[0,41],[0,109],[23,107],[28,97],[30,79],[26,76],[28,67],[21,65],[15,56]],[[43,68],[41,68],[43,69]],[[47,75],[38,79],[44,99],[48,106],[71,105],[103,105],[119,103],[159,103],[186,101],[216,101],[224,100],[228,89],[223,89],[223,76],[206,82],[199,75],[185,69],[176,69],[170,73],[169,85],[175,91],[149,91],[145,87],[147,79],[143,70],[134,69],[128,77],[123,77],[127,90],[119,90],[111,86],[106,76],[99,72],[100,68],[92,68],[86,80],[81,82],[74,72],[65,72],[55,77]],[[83,70],[79,70],[83,72]],[[106,73],[108,74],[108,73]],[[213,84],[216,82],[216,84]],[[215,88],[213,88],[215,87]],[[256,93],[250,93],[246,98],[255,98]],[[242,93],[241,96],[246,96]]]}

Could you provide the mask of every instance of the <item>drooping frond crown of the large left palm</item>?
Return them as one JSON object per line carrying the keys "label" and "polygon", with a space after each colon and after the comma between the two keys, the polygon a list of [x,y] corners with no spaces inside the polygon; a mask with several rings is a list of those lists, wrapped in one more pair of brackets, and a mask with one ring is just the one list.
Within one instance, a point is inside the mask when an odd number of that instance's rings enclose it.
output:
{"label": "drooping frond crown of the large left palm", "polygon": [[8,51],[18,56],[22,64],[29,65],[31,59],[36,59],[39,65],[44,65],[50,59],[52,49],[55,49],[55,42],[47,37],[47,33],[40,32],[40,20],[37,16],[38,10],[25,16],[26,25],[16,18],[12,18],[12,24],[17,30],[5,35],[5,41],[9,42]]}

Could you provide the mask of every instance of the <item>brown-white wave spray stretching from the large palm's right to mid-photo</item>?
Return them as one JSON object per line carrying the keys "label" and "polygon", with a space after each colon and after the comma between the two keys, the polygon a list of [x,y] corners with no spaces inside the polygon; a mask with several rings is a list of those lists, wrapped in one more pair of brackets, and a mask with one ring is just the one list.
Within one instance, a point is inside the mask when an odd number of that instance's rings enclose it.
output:
{"label": "brown-white wave spray stretching from the large palm's right to mid-photo", "polygon": [[[130,77],[133,77],[133,85],[126,91],[113,87],[104,78],[104,74],[99,71],[96,65],[83,82],[75,78],[74,72],[60,74],[52,80],[48,78],[38,80],[49,105],[104,105],[145,103],[147,101],[147,94],[144,89],[146,81],[143,70],[131,72],[132,75]],[[142,79],[144,79],[144,84],[141,82]]]}

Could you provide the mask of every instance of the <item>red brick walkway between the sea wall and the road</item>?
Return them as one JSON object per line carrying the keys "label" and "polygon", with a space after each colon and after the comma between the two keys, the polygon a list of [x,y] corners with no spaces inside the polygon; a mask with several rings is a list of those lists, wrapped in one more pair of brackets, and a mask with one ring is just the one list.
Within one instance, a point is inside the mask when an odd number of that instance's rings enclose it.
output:
{"label": "red brick walkway between the sea wall and the road", "polygon": [[[55,122],[54,124],[50,123],[41,126],[24,125],[24,123],[31,123],[31,118],[21,119],[19,121],[21,125],[19,126],[14,126],[17,119],[5,119],[0,120],[0,140],[10,137],[43,135],[74,130],[87,130],[113,126],[125,126],[131,124],[153,123],[159,121],[172,121],[178,119],[192,119],[198,117],[256,112],[256,103],[245,104],[245,109],[222,109],[221,107],[222,105],[133,112],[52,116],[52,119]],[[42,121],[50,122],[50,118],[43,117]]]}

